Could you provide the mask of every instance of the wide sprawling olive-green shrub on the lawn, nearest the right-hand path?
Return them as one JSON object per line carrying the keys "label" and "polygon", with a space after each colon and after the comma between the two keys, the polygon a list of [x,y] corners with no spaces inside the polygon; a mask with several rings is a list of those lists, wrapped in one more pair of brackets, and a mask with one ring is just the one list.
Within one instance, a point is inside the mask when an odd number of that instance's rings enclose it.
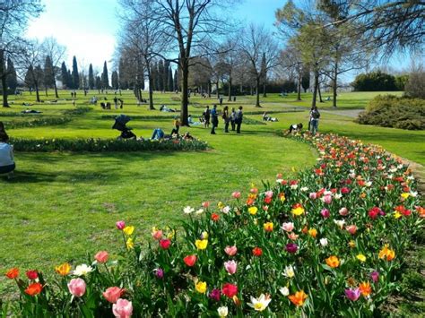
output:
{"label": "wide sprawling olive-green shrub on the lawn, nearest the right-hand path", "polygon": [[356,120],[363,125],[380,125],[409,130],[425,129],[425,99],[377,96]]}

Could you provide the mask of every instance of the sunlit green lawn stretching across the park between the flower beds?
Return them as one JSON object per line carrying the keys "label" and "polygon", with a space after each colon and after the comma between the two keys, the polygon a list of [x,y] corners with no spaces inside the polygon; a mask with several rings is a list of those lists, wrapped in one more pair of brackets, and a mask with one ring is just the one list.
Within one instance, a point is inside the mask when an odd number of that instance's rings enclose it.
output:
{"label": "sunlit green lawn stretching across the park between the flower beds", "polygon": [[[61,92],[63,93],[63,92]],[[88,106],[97,91],[84,97],[77,93],[77,106]],[[341,108],[365,107],[367,100],[377,93],[341,93]],[[69,93],[65,93],[66,97]],[[155,94],[156,107],[161,104],[179,107],[176,94]],[[324,94],[324,96],[327,96]],[[109,94],[108,101],[113,99]],[[42,111],[37,117],[65,116],[72,109],[70,100],[56,104],[34,104],[30,108]],[[71,115],[65,125],[10,129],[16,138],[114,138],[112,119],[102,116],[125,113],[134,116],[129,126],[138,136],[150,137],[152,130],[161,127],[166,133],[172,128],[171,116],[137,107],[130,91],[125,91],[124,110],[101,110],[91,106],[90,112]],[[296,113],[293,107],[308,107],[309,95],[294,103],[294,95],[282,98],[270,94],[263,100],[263,108],[253,107],[255,97],[238,97],[230,107],[244,106],[248,111],[285,111],[274,113],[277,123],[242,125],[243,133],[218,134],[193,125],[182,128],[195,137],[209,142],[212,150],[203,152],[141,152],[141,153],[16,153],[17,172],[12,181],[0,176],[0,216],[3,227],[0,244],[0,272],[19,266],[22,269],[51,269],[60,262],[82,262],[86,251],[113,251],[117,236],[113,225],[126,219],[139,228],[144,237],[153,226],[178,225],[186,205],[200,206],[201,202],[216,204],[225,201],[235,190],[246,190],[251,182],[272,181],[276,173],[291,176],[293,170],[311,166],[316,154],[305,144],[277,137],[274,132],[294,123],[307,123],[308,110]],[[24,94],[12,97],[12,108],[0,109],[0,121],[30,120],[33,115],[10,116],[19,113],[22,102],[34,102],[35,97]],[[216,99],[191,99],[190,113],[200,116],[204,105]],[[331,102],[327,102],[332,105]],[[7,113],[8,116],[2,116]],[[66,115],[69,116],[69,115]],[[139,118],[137,118],[139,116]],[[140,116],[152,116],[146,119]],[[261,115],[247,116],[261,121]],[[145,118],[145,119],[142,119]],[[319,130],[340,133],[364,142],[382,145],[387,150],[425,164],[424,132],[358,125],[353,118],[323,113]],[[0,279],[0,296],[10,284]]]}

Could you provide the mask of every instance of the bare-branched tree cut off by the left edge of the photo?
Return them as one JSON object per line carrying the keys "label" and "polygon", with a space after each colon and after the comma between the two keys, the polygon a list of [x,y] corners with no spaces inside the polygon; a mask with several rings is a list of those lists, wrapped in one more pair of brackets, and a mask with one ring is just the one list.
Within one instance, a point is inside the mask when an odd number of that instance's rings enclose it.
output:
{"label": "bare-branched tree cut off by the left edge of the photo", "polygon": [[7,0],[0,2],[0,80],[3,91],[3,107],[7,102],[7,68],[8,57],[22,51],[22,32],[30,17],[37,17],[43,7],[39,0]]}

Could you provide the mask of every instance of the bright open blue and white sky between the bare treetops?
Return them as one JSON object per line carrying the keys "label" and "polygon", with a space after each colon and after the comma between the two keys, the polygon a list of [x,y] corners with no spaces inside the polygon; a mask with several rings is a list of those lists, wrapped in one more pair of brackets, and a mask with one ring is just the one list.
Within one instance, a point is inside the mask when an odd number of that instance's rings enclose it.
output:
{"label": "bright open blue and white sky between the bare treetops", "polygon": [[[240,21],[264,24],[273,31],[274,12],[285,0],[237,0],[233,9]],[[110,61],[119,30],[117,0],[42,0],[45,12],[30,21],[27,37],[43,39],[52,36],[67,47],[66,64],[77,57],[80,68],[93,64],[101,71],[103,61]],[[406,67],[408,58],[395,56],[390,64]],[[109,64],[109,63],[108,63]],[[109,69],[111,68],[109,64]]]}

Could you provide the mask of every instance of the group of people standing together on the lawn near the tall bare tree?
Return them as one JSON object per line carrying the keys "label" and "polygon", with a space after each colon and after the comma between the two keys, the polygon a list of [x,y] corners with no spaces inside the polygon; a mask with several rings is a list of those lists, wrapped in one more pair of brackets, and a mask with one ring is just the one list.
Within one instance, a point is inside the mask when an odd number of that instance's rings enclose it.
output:
{"label": "group of people standing together on the lawn near the tall bare tree", "polygon": [[200,117],[200,122],[204,124],[205,128],[209,128],[211,123],[211,133],[216,134],[215,128],[217,128],[219,125],[219,115],[221,115],[221,118],[224,121],[224,133],[230,133],[229,126],[231,126],[231,131],[234,132],[236,129],[236,133],[240,133],[240,126],[242,125],[244,117],[242,109],[243,107],[241,106],[239,106],[238,110],[236,110],[235,107],[232,107],[231,111],[229,112],[229,106],[225,106],[221,114],[219,114],[217,105],[214,105],[212,109],[207,106],[205,107],[204,113]]}

